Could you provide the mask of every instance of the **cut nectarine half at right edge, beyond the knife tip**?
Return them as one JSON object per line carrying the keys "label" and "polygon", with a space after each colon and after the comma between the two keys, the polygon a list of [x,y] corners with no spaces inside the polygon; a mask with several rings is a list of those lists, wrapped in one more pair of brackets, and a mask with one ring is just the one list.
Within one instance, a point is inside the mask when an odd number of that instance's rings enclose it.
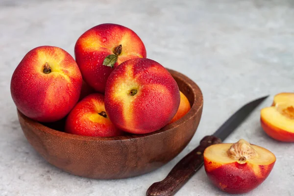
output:
{"label": "cut nectarine half at right edge, beyond the knife tip", "polygon": [[261,110],[260,121],[271,138],[294,142],[294,93],[277,94],[272,106]]}

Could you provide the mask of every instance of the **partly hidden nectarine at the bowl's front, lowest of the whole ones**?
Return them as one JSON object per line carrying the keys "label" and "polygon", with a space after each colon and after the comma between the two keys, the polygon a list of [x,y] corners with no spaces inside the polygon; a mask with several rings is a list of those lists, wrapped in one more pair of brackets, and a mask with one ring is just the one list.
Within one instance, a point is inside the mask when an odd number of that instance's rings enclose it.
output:
{"label": "partly hidden nectarine at the bowl's front, lowest of the whole ones", "polygon": [[123,131],[116,128],[108,118],[98,115],[102,111],[105,111],[102,94],[95,93],[86,96],[74,106],[68,115],[65,132],[93,137],[123,135]]}

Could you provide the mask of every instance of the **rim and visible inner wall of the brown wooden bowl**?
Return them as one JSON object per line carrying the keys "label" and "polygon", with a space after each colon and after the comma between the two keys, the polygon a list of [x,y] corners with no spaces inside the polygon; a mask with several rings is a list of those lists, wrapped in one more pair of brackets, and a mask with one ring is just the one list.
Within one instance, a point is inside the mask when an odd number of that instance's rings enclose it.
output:
{"label": "rim and visible inner wall of the brown wooden bowl", "polygon": [[37,129],[45,131],[47,133],[58,135],[60,137],[67,137],[69,139],[77,139],[77,140],[98,140],[98,141],[110,141],[110,140],[127,140],[127,139],[134,139],[134,138],[140,138],[140,137],[147,137],[154,134],[160,134],[164,131],[169,131],[169,129],[174,128],[176,126],[180,126],[181,123],[184,123],[188,121],[190,118],[195,115],[198,110],[202,108],[203,105],[203,97],[200,88],[196,85],[195,82],[193,82],[190,78],[183,75],[182,73],[178,73],[176,71],[167,69],[171,74],[172,77],[175,79],[175,81],[178,84],[179,90],[188,98],[191,109],[190,111],[181,119],[178,121],[166,125],[165,127],[161,128],[160,130],[154,131],[152,133],[148,134],[126,134],[123,136],[118,137],[90,137],[90,136],[80,136],[80,135],[74,135],[70,133],[64,132],[64,126],[65,126],[65,120],[66,117],[60,121],[54,122],[54,123],[39,123],[36,121],[33,121],[27,117],[25,117],[23,114],[19,112],[19,114],[29,123],[31,123],[33,126],[35,126]]}

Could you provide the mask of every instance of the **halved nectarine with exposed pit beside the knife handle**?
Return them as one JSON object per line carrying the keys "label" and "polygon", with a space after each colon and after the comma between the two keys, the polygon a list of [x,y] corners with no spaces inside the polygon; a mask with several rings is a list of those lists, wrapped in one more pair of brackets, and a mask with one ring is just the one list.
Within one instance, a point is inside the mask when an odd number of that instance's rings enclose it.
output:
{"label": "halved nectarine with exposed pit beside the knife handle", "polygon": [[241,139],[235,144],[216,144],[203,153],[204,168],[211,182],[222,191],[241,194],[252,191],[270,174],[276,161],[268,149]]}

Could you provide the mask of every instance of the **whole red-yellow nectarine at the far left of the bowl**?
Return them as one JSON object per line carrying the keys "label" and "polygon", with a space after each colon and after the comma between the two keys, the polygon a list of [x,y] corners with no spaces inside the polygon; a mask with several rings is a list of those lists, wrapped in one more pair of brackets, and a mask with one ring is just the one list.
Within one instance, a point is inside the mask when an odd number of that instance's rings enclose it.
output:
{"label": "whole red-yellow nectarine at the far left of the bowl", "polygon": [[[51,73],[44,73],[48,62]],[[10,83],[16,107],[39,122],[64,118],[78,101],[82,75],[73,57],[63,49],[41,46],[30,50],[15,69]]]}

